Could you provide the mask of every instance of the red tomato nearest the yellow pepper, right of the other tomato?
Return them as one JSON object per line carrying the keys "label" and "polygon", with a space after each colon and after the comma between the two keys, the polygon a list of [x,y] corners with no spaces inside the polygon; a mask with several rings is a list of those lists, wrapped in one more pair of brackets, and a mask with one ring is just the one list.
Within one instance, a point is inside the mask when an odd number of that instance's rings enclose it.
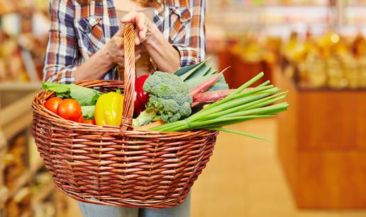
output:
{"label": "red tomato nearest the yellow pepper, right of the other tomato", "polygon": [[80,115],[82,115],[82,107],[76,100],[63,100],[60,105],[58,105],[57,114],[65,119],[77,122]]}

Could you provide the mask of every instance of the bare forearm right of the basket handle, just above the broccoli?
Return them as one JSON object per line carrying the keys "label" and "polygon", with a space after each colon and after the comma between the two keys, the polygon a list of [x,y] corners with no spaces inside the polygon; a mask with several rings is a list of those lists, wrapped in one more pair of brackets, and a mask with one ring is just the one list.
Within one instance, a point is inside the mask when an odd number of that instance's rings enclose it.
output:
{"label": "bare forearm right of the basket handle, just above the broccoli", "polygon": [[156,27],[153,27],[151,33],[144,45],[157,65],[157,69],[170,73],[177,71],[180,67],[180,56],[177,49],[170,45]]}

